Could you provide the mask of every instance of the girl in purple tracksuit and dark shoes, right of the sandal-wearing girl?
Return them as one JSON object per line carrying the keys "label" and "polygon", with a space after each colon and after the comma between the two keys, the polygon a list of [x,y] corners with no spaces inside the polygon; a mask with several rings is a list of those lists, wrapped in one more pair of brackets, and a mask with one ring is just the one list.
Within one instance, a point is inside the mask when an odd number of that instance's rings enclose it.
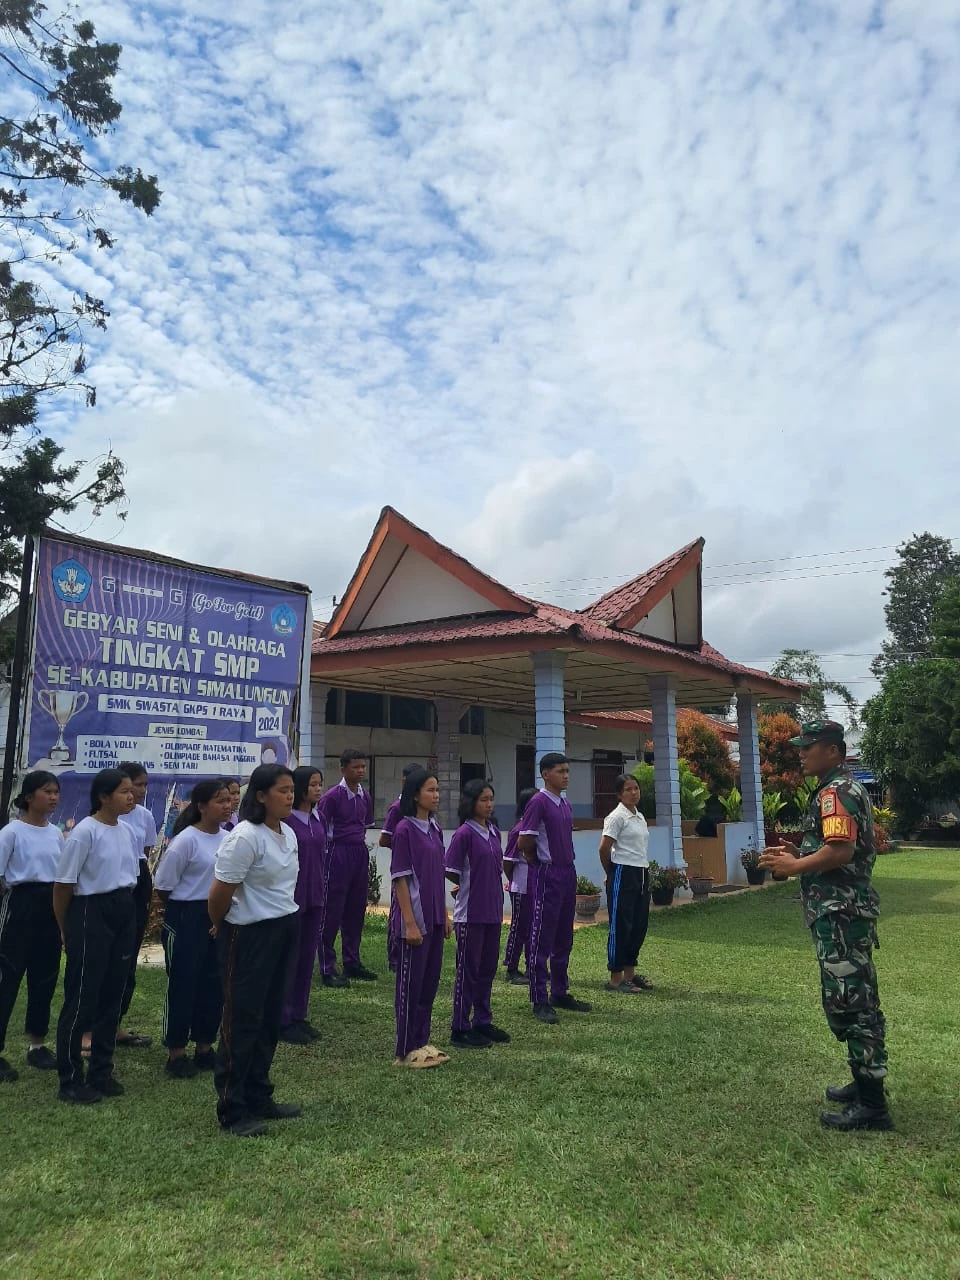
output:
{"label": "girl in purple tracksuit and dark shoes, right of the sandal-wearing girl", "polygon": [[[457,977],[453,983],[451,1044],[489,1048],[509,1041],[494,1027],[490,992],[497,975],[503,924],[503,852],[490,822],[493,787],[483,778],[467,782],[460,796],[460,827],[447,850],[447,878],[458,886],[453,908]],[[472,1012],[472,1023],[471,1023]]]}

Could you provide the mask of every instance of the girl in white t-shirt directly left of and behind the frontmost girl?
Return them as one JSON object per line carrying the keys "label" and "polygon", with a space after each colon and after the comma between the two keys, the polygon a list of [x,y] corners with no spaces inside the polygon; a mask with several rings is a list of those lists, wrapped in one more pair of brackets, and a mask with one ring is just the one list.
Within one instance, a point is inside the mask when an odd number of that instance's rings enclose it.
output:
{"label": "girl in white t-shirt directly left of and behind the frontmost girl", "polygon": [[[175,1080],[214,1070],[212,1044],[223,1011],[223,987],[206,900],[214,883],[216,855],[227,838],[220,823],[232,812],[225,778],[197,782],[154,877],[154,887],[164,902],[160,932],[166,961],[164,1070]],[[191,1041],[192,1059],[187,1057]]]}

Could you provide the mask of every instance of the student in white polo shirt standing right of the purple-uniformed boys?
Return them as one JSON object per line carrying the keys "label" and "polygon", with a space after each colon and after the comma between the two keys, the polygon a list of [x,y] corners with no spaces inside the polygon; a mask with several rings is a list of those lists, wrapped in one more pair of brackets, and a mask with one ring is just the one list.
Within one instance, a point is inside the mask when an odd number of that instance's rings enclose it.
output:
{"label": "student in white polo shirt standing right of the purple-uniformed boys", "polygon": [[620,804],[607,814],[600,838],[600,861],[607,873],[607,910],[611,932],[607,941],[607,991],[637,995],[653,983],[636,972],[640,947],[650,919],[649,832],[637,809],[640,786],[630,773],[616,781]]}

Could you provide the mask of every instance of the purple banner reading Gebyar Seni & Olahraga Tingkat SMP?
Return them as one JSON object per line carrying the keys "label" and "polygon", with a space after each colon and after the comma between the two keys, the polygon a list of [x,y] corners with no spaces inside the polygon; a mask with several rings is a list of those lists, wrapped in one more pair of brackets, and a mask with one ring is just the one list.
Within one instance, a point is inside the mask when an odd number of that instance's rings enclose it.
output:
{"label": "purple banner reading Gebyar Seni & Olahraga Tingkat SMP", "polygon": [[305,593],[42,539],[24,756],[59,776],[61,824],[120,760],[143,763],[163,828],[200,778],[296,759]]}

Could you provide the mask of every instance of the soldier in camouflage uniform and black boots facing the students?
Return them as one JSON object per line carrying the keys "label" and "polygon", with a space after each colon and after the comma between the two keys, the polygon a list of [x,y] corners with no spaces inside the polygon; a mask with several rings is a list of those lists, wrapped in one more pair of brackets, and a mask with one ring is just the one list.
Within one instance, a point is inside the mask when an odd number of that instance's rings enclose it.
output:
{"label": "soldier in camouflage uniform and black boots facing the students", "polygon": [[791,739],[805,777],[819,786],[804,815],[800,849],[764,849],[760,867],[780,878],[800,877],[804,916],[820,966],[823,1011],[829,1029],[846,1043],[852,1082],[827,1089],[844,1111],[824,1111],[828,1129],[891,1129],[883,1094],[887,1074],[884,1020],[877,992],[873,948],[879,899],[870,883],[877,846],[873,806],[845,765],[844,726],[804,724]]}

